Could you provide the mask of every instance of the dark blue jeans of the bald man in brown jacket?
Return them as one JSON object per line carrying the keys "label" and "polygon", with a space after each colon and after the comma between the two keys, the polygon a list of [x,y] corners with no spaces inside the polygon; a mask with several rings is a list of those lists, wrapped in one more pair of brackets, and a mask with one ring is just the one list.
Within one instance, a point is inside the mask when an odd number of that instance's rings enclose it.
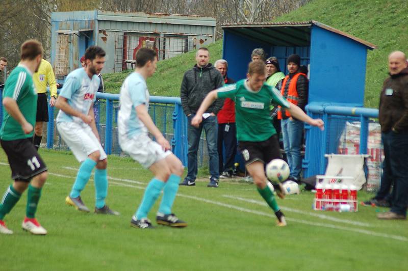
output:
{"label": "dark blue jeans of the bald man in brown jacket", "polygon": [[[381,136],[385,155],[381,182],[394,181],[391,193],[391,211],[406,215],[408,206],[408,130],[383,132]],[[391,183],[389,185],[391,186]]]}

